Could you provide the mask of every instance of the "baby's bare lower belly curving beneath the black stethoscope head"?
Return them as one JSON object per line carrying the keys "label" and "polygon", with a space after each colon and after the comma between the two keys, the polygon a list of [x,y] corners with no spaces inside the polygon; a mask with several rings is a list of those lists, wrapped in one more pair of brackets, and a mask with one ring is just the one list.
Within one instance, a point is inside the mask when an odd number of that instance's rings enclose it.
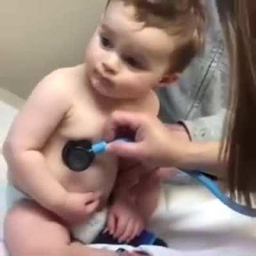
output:
{"label": "baby's bare lower belly curving beneath the black stethoscope head", "polygon": [[[60,144],[57,143],[60,146]],[[54,178],[70,192],[93,192],[99,191],[102,200],[106,202],[116,180],[118,169],[116,157],[110,154],[102,154],[95,157],[92,165],[82,172],[75,172],[63,163],[61,147],[45,149],[44,156],[49,166],[49,172]]]}

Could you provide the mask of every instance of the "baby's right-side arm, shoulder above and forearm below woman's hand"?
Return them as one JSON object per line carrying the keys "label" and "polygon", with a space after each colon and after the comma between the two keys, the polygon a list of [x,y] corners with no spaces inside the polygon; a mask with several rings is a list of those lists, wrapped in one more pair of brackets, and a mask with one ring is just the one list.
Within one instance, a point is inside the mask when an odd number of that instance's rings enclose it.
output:
{"label": "baby's right-side arm, shoulder above and forearm below woman's hand", "polygon": [[[159,100],[156,93],[151,92],[144,100],[140,100],[140,106],[136,106],[136,109],[133,106],[132,109],[127,107],[124,110],[136,110],[156,116],[159,111]],[[157,203],[150,198],[149,204],[143,204],[144,198],[148,200],[146,196],[148,191],[143,191],[147,187],[144,182],[148,184],[148,179],[143,180],[144,177],[141,178],[141,175],[147,173],[145,177],[151,176],[146,166],[138,162],[133,163],[132,159],[120,159],[119,169],[118,179],[113,189],[114,200],[109,210],[107,228],[109,233],[119,241],[131,241],[145,228],[148,216],[152,215]],[[144,206],[147,207],[143,209]]]}

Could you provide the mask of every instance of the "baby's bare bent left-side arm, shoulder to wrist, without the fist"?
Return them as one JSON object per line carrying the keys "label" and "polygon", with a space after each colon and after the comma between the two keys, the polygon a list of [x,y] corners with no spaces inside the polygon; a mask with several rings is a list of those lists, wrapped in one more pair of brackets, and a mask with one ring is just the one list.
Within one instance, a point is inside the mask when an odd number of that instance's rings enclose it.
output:
{"label": "baby's bare bent left-side arm, shoulder to wrist, without the fist", "polygon": [[52,177],[41,150],[70,108],[63,74],[57,70],[33,90],[13,122],[4,143],[4,157],[17,188],[52,210],[65,196],[65,189]]}

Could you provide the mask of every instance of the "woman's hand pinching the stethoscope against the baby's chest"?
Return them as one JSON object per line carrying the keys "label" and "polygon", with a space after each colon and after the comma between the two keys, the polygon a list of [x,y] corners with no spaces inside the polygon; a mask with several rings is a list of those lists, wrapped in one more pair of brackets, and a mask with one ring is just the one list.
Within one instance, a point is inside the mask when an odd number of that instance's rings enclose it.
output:
{"label": "woman's hand pinching the stethoscope against the baby's chest", "polygon": [[[134,133],[134,142],[113,141],[120,129]],[[116,111],[109,118],[106,140],[113,141],[108,145],[108,152],[153,166],[179,167],[191,146],[189,137],[181,138],[180,129],[169,129],[154,116],[123,111]]]}

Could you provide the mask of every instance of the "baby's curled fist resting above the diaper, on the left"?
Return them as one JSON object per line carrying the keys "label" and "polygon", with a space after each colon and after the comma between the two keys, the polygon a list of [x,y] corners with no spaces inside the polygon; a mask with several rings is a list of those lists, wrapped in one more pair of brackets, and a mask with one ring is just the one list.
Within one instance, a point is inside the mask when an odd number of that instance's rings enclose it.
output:
{"label": "baby's curled fist resting above the diaper, on the left", "polygon": [[56,214],[68,224],[76,224],[86,220],[93,212],[97,211],[100,203],[100,193],[70,193],[63,198],[57,207]]}

